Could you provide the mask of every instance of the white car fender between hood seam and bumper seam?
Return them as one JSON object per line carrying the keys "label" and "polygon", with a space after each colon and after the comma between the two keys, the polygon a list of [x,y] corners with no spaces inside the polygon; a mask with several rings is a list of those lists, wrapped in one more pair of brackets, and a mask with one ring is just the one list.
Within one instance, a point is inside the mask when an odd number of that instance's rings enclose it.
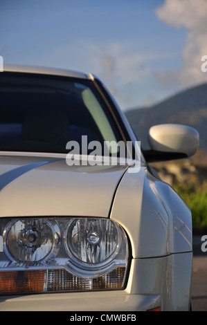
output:
{"label": "white car fender between hood seam and bumper seam", "polygon": [[167,183],[141,167],[126,172],[111,207],[110,218],[126,230],[132,257],[161,257],[192,250],[189,207]]}

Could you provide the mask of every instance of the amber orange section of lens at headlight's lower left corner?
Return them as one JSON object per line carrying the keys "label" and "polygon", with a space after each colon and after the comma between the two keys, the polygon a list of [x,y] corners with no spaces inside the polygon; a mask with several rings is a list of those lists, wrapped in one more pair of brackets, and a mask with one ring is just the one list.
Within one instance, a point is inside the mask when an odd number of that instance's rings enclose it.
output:
{"label": "amber orange section of lens at headlight's lower left corner", "polygon": [[44,292],[44,270],[0,272],[0,294]]}

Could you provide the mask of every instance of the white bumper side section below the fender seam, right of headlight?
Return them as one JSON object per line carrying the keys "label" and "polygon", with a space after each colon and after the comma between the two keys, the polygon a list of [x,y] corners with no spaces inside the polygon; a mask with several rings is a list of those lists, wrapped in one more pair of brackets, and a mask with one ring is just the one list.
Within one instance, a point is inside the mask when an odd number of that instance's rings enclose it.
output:
{"label": "white bumper side section below the fender seam, right of headlight", "polygon": [[127,292],[130,295],[161,296],[161,310],[189,310],[190,252],[165,257],[133,259]]}

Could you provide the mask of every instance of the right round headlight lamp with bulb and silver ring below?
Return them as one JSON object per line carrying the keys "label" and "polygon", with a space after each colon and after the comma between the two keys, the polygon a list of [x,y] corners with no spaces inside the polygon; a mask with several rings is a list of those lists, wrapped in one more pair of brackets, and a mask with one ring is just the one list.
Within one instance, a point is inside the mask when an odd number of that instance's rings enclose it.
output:
{"label": "right round headlight lamp with bulb and silver ring below", "polygon": [[125,232],[110,219],[73,219],[64,238],[71,270],[77,275],[97,277],[127,259]]}

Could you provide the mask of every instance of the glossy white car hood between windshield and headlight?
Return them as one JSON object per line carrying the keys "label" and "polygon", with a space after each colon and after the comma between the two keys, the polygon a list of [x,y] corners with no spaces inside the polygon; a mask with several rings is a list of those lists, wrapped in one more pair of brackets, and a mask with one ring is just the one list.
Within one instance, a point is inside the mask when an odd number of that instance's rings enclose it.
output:
{"label": "glossy white car hood between windshield and headlight", "polygon": [[68,166],[66,160],[1,156],[0,216],[108,217],[126,166]]}

